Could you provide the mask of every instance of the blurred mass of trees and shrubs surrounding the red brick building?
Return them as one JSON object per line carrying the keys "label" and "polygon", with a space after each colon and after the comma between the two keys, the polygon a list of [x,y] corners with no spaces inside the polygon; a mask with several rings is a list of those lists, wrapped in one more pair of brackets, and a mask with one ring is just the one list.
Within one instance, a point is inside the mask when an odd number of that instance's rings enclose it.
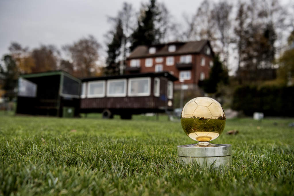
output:
{"label": "blurred mass of trees and shrubs surrounding the red brick building", "polygon": [[[185,22],[179,24],[160,1],[144,1],[139,10],[124,2],[108,17],[103,62],[103,44],[92,35],[61,48],[49,44],[30,49],[11,42],[0,65],[0,97],[15,100],[20,74],[62,69],[77,77],[116,75],[120,61],[138,45],[208,39],[216,54],[210,78],[199,84],[200,91],[183,90],[183,103],[205,94],[246,115],[293,116],[283,112],[293,109],[294,85],[294,4],[287,5],[278,0],[204,0],[194,14],[183,14]],[[174,98],[177,108],[179,91]]]}

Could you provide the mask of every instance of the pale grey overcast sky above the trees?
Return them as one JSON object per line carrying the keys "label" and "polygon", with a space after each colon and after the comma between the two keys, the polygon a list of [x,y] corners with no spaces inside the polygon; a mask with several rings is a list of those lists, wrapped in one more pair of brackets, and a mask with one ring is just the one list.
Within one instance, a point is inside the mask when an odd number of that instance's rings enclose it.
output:
{"label": "pale grey overcast sky above the trees", "polygon": [[[164,2],[177,21],[183,13],[194,14],[201,1],[158,0]],[[138,11],[140,0],[129,0]],[[144,0],[143,2],[148,2]],[[116,16],[122,0],[0,0],[0,57],[8,53],[12,41],[30,49],[64,44],[92,34],[105,49],[103,35],[111,28],[107,16]]]}

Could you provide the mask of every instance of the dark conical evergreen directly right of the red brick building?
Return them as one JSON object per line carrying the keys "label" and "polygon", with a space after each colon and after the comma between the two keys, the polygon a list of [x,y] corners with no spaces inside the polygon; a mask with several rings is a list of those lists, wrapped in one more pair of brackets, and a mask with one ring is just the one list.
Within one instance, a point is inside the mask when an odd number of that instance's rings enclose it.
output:
{"label": "dark conical evergreen directly right of the red brick building", "polygon": [[220,62],[219,56],[215,56],[209,78],[203,81],[202,86],[206,93],[215,93],[218,83],[228,84],[228,79],[228,71],[223,68],[223,63]]}

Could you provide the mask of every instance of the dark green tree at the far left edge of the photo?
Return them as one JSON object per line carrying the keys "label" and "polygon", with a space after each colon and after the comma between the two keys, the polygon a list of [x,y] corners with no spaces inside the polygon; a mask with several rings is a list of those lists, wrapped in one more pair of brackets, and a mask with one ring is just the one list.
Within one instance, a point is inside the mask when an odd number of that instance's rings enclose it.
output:
{"label": "dark green tree at the far left edge of the photo", "polygon": [[16,96],[14,89],[17,85],[19,71],[12,56],[5,55],[3,61],[4,65],[0,65],[0,74],[3,77],[2,89],[6,91],[9,100],[12,100]]}

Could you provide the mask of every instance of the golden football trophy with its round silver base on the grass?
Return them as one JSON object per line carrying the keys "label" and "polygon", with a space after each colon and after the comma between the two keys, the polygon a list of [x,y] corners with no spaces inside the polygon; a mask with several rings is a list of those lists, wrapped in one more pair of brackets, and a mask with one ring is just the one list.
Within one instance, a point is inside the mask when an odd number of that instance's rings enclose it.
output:
{"label": "golden football trophy with its round silver base on the grass", "polygon": [[184,132],[197,144],[177,146],[178,159],[201,167],[222,167],[232,162],[232,145],[212,144],[225,128],[225,112],[218,101],[197,97],[186,103],[181,114]]}

